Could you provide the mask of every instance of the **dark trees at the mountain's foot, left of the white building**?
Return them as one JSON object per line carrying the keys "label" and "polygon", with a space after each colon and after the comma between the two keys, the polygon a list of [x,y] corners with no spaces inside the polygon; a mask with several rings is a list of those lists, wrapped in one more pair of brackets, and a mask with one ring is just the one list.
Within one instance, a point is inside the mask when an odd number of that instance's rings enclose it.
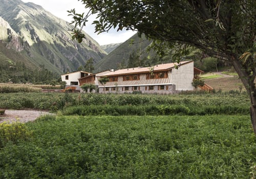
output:
{"label": "dark trees at the mountain's foot, left of the white building", "polygon": [[3,61],[0,65],[0,82],[7,83],[33,83],[33,84],[56,84],[61,81],[57,73],[53,73],[40,65],[37,69],[29,69],[24,62]]}

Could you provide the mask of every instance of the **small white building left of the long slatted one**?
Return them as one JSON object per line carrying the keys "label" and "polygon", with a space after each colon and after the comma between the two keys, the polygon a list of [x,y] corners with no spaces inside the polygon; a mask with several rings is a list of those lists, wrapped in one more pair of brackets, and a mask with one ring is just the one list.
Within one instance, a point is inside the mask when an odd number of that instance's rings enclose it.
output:
{"label": "small white building left of the long slatted one", "polygon": [[82,77],[87,77],[93,75],[92,73],[89,72],[83,72],[83,71],[77,71],[77,72],[72,72],[72,73],[67,73],[67,74],[63,74],[61,75],[61,81],[65,81],[66,82],[66,86],[78,86],[81,85],[79,83],[79,78]]}

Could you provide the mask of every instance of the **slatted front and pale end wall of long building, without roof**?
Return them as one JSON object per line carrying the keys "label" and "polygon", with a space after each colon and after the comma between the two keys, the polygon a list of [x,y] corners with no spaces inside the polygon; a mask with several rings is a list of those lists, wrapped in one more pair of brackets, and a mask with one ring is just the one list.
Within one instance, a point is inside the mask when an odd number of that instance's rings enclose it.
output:
{"label": "slatted front and pale end wall of long building, without roof", "polygon": [[[163,72],[163,71],[162,71]],[[155,75],[160,72],[155,72]],[[194,78],[194,62],[188,62],[179,66],[178,69],[170,69],[167,77],[149,79],[148,73],[141,74],[126,74],[116,76],[117,80],[111,80],[105,84],[99,83],[99,93],[133,93],[139,91],[143,94],[173,94],[179,91],[193,91],[194,87],[191,84]],[[132,78],[133,75],[139,75],[138,80],[125,80],[125,76]],[[97,80],[99,77],[96,77]],[[130,79],[131,79],[130,78]],[[134,90],[137,86],[137,90]],[[150,88],[151,86],[151,88]],[[160,88],[161,86],[161,88]],[[113,90],[115,88],[115,90]]]}

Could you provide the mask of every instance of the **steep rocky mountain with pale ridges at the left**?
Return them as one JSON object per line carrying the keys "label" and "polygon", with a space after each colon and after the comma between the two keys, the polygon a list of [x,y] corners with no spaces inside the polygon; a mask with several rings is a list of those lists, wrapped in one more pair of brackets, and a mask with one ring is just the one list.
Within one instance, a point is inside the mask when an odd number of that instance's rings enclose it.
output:
{"label": "steep rocky mountain with pale ridges at the left", "polygon": [[[73,26],[41,6],[20,0],[0,0],[0,62],[22,61],[28,68],[44,68],[58,74],[75,71],[106,52],[88,34],[81,43],[72,41]],[[10,50],[16,55],[10,55]]]}

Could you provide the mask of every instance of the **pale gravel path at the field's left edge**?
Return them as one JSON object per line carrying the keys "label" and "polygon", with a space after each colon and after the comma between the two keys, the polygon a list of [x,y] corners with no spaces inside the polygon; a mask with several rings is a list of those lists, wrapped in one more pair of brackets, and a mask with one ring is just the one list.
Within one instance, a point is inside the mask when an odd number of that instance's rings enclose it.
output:
{"label": "pale gravel path at the field's left edge", "polygon": [[46,111],[39,111],[39,110],[5,110],[5,115],[0,115],[0,123],[3,122],[28,122],[34,121],[36,118],[50,114]]}

